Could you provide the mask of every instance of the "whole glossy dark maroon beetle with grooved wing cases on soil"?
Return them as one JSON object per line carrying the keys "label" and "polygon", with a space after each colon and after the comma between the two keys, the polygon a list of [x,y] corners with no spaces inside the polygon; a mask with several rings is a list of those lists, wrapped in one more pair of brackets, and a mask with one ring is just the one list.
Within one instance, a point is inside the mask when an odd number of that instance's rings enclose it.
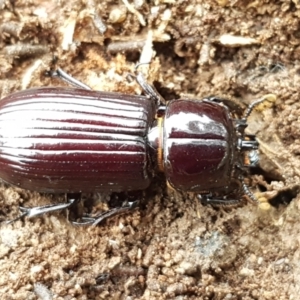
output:
{"label": "whole glossy dark maroon beetle with grooved wing cases on soil", "polygon": [[[141,74],[143,96],[92,91],[60,69],[52,75],[76,87],[34,88],[0,102],[0,178],[6,183],[46,193],[122,192],[147,188],[161,171],[174,189],[195,192],[203,202],[235,203],[230,196],[241,193],[255,200],[244,174],[247,153],[258,143],[245,128],[264,99],[237,118],[241,108],[218,97],[163,106]],[[22,208],[21,217],[74,202]],[[95,225],[134,205],[84,223]]]}

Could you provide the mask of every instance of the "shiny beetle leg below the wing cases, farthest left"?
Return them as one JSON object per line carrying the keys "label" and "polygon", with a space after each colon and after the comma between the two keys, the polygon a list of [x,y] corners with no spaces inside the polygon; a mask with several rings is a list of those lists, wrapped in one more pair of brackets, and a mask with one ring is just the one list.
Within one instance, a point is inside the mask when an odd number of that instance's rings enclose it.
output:
{"label": "shiny beetle leg below the wing cases, farthest left", "polygon": [[35,207],[20,207],[20,211],[22,212],[22,214],[13,220],[7,221],[6,224],[11,224],[24,217],[33,218],[33,217],[44,215],[49,212],[67,209],[70,206],[76,204],[77,202],[78,199],[70,199],[69,202],[67,203],[48,204],[48,205],[35,206]]}

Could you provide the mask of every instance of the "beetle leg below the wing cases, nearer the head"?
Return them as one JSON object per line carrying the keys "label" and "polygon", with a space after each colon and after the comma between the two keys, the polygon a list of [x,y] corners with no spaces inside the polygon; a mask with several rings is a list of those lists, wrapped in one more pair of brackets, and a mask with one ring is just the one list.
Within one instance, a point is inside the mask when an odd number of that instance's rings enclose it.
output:
{"label": "beetle leg below the wing cases, nearer the head", "polygon": [[81,218],[81,221],[79,221],[79,222],[72,221],[71,223],[73,225],[97,226],[98,224],[100,224],[101,222],[103,222],[104,220],[106,220],[112,216],[122,215],[122,214],[125,214],[125,213],[137,208],[139,205],[139,202],[140,202],[139,200],[136,200],[133,202],[126,202],[121,207],[116,207],[116,208],[110,209],[110,210],[108,210],[104,213],[101,213],[95,217],[83,217],[83,218]]}

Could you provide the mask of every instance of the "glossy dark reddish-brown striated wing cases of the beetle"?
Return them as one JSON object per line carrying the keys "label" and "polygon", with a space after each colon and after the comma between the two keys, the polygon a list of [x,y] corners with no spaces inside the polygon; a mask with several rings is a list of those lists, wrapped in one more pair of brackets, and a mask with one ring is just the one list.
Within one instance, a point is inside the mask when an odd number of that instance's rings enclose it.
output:
{"label": "glossy dark reddish-brown striated wing cases of the beetle", "polygon": [[72,88],[0,102],[0,177],[39,192],[124,191],[150,183],[144,97]]}

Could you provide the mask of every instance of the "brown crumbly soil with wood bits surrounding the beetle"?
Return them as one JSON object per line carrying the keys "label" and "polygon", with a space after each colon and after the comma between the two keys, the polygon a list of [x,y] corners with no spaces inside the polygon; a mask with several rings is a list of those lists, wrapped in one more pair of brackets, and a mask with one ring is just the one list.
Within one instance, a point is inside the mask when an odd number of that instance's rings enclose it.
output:
{"label": "brown crumbly soil with wood bits surrounding the beetle", "polygon": [[[3,225],[0,298],[299,299],[298,1],[130,0],[136,12],[98,2],[0,0],[1,98],[61,84],[44,76],[54,56],[94,89],[139,93],[125,78],[152,29],[149,80],[166,99],[277,96],[250,121],[261,142],[253,188],[274,206],[202,207],[159,178],[146,205],[96,228],[74,227],[65,213]],[[61,201],[0,189],[2,220],[22,203]]]}

